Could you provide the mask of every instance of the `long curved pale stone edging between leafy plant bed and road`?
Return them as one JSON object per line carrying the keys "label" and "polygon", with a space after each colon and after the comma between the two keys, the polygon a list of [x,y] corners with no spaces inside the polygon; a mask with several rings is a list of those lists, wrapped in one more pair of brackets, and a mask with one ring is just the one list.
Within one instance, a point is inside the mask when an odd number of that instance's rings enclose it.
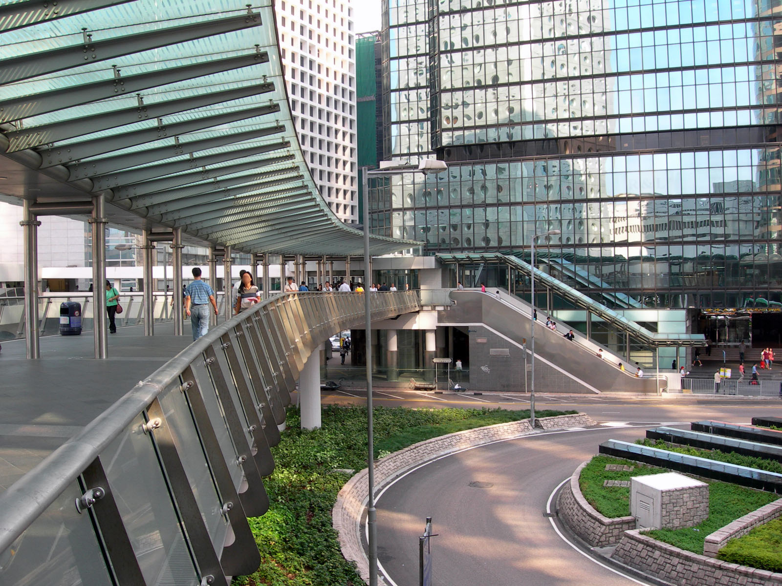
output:
{"label": "long curved pale stone edging between leafy plant bed and road", "polygon": [[[563,415],[559,417],[544,417],[547,420],[547,429],[565,429],[568,427],[592,427],[596,425],[594,420],[584,414]],[[548,420],[561,420],[561,424],[554,427],[554,422]],[[537,420],[537,421],[540,421]],[[545,428],[544,428],[545,429]],[[418,444],[408,446],[394,452],[385,458],[375,462],[375,493],[379,492],[391,481],[400,477],[407,470],[411,470],[419,464],[429,462],[439,456],[445,456],[461,449],[472,448],[476,445],[489,444],[493,441],[521,438],[533,432],[529,420],[511,421],[510,423],[497,423],[487,427],[477,427],[472,430],[458,431],[455,434],[441,435]],[[357,571],[364,582],[369,581],[369,560],[364,547],[361,545],[361,516],[366,509],[368,501],[367,469],[355,474],[343,486],[337,495],[337,501],[332,509],[332,526],[339,537],[339,546],[343,556],[356,563]],[[423,527],[423,525],[421,525]],[[381,576],[378,576],[378,584],[386,584]]]}

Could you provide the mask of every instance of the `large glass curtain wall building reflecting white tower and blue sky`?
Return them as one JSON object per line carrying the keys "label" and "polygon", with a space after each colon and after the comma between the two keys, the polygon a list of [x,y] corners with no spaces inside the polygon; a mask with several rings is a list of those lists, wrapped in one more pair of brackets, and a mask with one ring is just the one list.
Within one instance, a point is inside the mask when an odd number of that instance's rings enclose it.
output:
{"label": "large glass curtain wall building reflecting white tower and blue sky", "polygon": [[[779,0],[386,0],[375,231],[647,307],[782,302]],[[390,186],[390,188],[389,188]],[[543,268],[545,268],[543,266]],[[593,295],[594,296],[594,295]]]}

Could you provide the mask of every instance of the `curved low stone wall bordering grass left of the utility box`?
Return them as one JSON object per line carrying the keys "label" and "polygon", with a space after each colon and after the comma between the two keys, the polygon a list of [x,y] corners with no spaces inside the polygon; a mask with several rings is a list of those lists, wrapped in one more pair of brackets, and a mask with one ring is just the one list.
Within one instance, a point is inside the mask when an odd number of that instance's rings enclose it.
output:
{"label": "curved low stone wall bordering grass left of the utility box", "polygon": [[615,545],[622,538],[622,533],[635,529],[636,520],[633,516],[603,516],[587,502],[579,488],[579,477],[581,470],[588,463],[590,460],[576,468],[569,483],[565,484],[565,488],[560,492],[557,502],[558,515],[570,531],[592,547]]}

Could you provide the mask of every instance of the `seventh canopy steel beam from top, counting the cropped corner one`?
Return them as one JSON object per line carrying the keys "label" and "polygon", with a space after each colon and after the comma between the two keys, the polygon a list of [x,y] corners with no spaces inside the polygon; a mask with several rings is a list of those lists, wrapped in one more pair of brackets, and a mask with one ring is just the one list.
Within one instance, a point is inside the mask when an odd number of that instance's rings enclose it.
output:
{"label": "seventh canopy steel beam from top, counting the cropped corner one", "polygon": [[279,141],[273,142],[271,145],[260,145],[252,148],[242,148],[236,151],[218,152],[216,155],[202,157],[194,157],[191,155],[188,159],[171,161],[170,163],[160,163],[160,165],[146,165],[128,171],[121,171],[120,173],[92,177],[92,184],[95,189],[113,189],[119,185],[127,188],[131,184],[138,184],[145,180],[155,179],[173,173],[183,173],[185,171],[197,169],[198,167],[217,165],[217,163],[225,163],[226,161],[235,159],[246,159],[253,155],[263,155],[267,152],[278,151],[281,148],[288,148],[290,145],[289,141]]}

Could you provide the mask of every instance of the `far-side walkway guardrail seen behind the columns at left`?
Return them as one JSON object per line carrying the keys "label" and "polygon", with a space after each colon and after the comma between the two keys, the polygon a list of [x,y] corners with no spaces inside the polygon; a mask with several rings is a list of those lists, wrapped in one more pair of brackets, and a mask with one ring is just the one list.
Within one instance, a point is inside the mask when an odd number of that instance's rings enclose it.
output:
{"label": "far-side walkway guardrail seen behind the columns at left", "polygon": [[[174,308],[171,306],[172,293],[169,291],[156,292],[153,295],[152,314],[155,323],[162,323],[174,319]],[[217,292],[218,309],[222,313],[224,294]],[[81,330],[88,332],[93,330],[92,294],[83,293],[41,293],[38,296],[39,334],[59,334],[59,306],[63,302],[76,301],[81,303]],[[144,323],[144,294],[135,291],[133,293],[120,293],[120,304],[124,311],[114,319],[117,327],[136,326]],[[0,298],[0,340],[24,338],[24,298],[2,297]]]}

